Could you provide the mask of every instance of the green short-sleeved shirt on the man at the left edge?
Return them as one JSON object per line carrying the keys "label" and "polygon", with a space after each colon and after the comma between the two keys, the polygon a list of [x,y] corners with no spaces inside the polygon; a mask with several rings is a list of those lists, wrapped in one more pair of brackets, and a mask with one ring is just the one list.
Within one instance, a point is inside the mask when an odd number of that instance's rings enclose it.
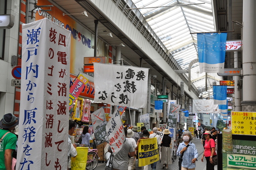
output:
{"label": "green short-sleeved shirt on the man at the left edge", "polygon": [[[1,129],[0,130],[0,138],[9,130]],[[6,149],[16,149],[17,136],[13,133],[8,133],[4,136],[1,144],[0,144],[0,170],[5,170],[4,164],[4,153]]]}

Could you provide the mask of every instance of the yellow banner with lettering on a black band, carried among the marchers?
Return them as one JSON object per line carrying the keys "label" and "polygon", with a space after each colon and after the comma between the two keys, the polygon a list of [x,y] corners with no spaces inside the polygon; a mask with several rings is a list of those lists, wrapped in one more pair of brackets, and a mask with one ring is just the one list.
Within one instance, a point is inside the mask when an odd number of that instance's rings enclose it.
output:
{"label": "yellow banner with lettering on a black band, carried among the marchers", "polygon": [[139,167],[152,164],[159,160],[159,151],[156,137],[141,139],[139,146]]}

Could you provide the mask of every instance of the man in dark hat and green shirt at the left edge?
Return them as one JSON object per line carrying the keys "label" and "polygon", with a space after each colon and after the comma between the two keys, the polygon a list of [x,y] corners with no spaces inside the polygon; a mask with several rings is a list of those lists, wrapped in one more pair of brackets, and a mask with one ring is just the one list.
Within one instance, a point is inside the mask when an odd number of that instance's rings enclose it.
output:
{"label": "man in dark hat and green shirt at the left edge", "polygon": [[16,149],[17,136],[11,133],[19,124],[19,118],[11,113],[0,120],[0,170],[11,170],[12,151]]}

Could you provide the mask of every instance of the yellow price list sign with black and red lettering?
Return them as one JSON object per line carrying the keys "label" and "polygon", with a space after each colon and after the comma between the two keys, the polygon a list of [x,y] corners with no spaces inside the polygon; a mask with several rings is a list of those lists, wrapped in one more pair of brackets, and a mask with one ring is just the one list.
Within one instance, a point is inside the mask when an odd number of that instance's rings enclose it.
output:
{"label": "yellow price list sign with black and red lettering", "polygon": [[232,111],[232,134],[256,135],[256,112]]}

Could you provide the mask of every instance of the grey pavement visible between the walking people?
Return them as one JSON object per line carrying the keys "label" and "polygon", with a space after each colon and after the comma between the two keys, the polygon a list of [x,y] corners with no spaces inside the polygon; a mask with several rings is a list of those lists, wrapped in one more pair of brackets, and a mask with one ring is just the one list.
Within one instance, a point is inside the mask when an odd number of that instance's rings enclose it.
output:
{"label": "grey pavement visible between the walking people", "polygon": [[[206,159],[204,159],[204,162],[201,161],[201,157],[204,152],[203,145],[201,144],[201,139],[195,138],[191,142],[196,145],[196,149],[198,152],[198,161],[196,162],[195,170],[206,170]],[[95,170],[104,170],[105,165],[106,165],[105,163],[99,163]],[[163,167],[163,164],[161,164],[160,161],[158,161],[156,164],[156,170],[163,170],[162,167]],[[177,157],[177,159],[173,162],[172,165],[168,165],[168,168],[169,170],[179,170],[179,157]],[[217,166],[215,166],[214,168],[215,170],[218,170]],[[136,170],[143,170],[138,168],[138,161],[136,163]],[[148,167],[148,170],[151,170],[150,166]]]}

